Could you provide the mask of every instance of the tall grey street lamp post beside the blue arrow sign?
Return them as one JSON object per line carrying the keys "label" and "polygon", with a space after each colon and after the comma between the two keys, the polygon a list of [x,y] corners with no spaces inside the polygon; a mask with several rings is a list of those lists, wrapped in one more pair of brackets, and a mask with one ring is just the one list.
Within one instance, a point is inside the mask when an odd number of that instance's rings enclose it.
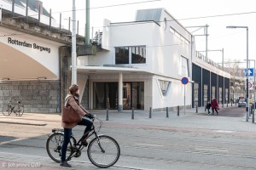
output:
{"label": "tall grey street lamp post beside the blue arrow sign", "polygon": [[[247,29],[247,71],[248,71],[248,26],[227,26],[226,28],[246,28]],[[248,72],[246,72],[246,83],[247,83],[247,122],[248,122],[248,119],[249,119],[249,112],[248,112],[248,107],[249,107],[249,89],[248,89]]]}

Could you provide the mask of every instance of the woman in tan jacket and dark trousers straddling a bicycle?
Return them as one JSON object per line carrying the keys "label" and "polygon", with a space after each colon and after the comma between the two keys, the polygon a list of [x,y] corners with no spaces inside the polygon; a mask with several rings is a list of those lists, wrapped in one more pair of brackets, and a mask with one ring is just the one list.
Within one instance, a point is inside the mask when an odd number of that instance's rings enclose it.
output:
{"label": "woman in tan jacket and dark trousers straddling a bicycle", "polygon": [[[65,106],[73,107],[74,111],[76,111],[80,116],[90,115],[89,111],[86,111],[82,105],[79,104],[79,86],[77,84],[73,84],[68,88],[69,93],[65,98]],[[92,122],[90,120],[82,118],[82,121],[79,123],[67,123],[61,122],[61,126],[64,127],[64,141],[61,147],[61,167],[71,167],[70,164],[66,161],[66,153],[67,153],[67,144],[70,141],[72,135],[72,128],[76,125],[84,125],[86,126],[84,129],[84,141],[83,144],[87,145],[86,142],[86,133],[90,131],[92,127]],[[87,134],[88,135],[88,134]]]}

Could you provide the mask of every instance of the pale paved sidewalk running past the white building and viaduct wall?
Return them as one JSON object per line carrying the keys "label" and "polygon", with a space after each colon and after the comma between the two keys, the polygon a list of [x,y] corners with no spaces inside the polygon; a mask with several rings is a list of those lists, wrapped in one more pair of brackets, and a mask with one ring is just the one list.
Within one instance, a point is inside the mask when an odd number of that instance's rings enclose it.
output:
{"label": "pale paved sidewalk running past the white building and viaduct wall", "polygon": [[[237,107],[233,105],[233,107]],[[207,129],[221,129],[221,130],[232,130],[232,131],[247,131],[254,132],[256,129],[251,122],[245,122],[245,117],[225,117],[221,116],[221,112],[229,109],[226,105],[222,108],[220,105],[220,115],[218,116],[207,116],[207,111],[204,107],[196,109],[187,109],[179,111],[158,111],[152,112],[151,118],[149,118],[149,112],[135,110],[134,119],[132,119],[132,111],[125,110],[122,112],[109,110],[107,116],[106,111],[90,111],[101,119],[105,125],[110,124],[123,124],[123,125],[148,125],[148,126],[160,126],[160,127],[187,127],[187,128],[207,128]],[[168,116],[168,117],[167,117]],[[108,119],[107,119],[108,118]],[[218,122],[218,123],[216,123]],[[3,116],[0,114],[0,123],[15,123],[15,124],[26,124],[32,126],[46,126],[47,124],[61,125],[61,113],[24,113],[23,116]]]}

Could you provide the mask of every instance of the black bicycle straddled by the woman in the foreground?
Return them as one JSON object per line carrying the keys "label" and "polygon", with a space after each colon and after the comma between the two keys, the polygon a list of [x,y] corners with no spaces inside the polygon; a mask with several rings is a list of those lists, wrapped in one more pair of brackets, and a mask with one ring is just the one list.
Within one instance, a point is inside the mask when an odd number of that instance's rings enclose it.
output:
{"label": "black bicycle straddled by the woman in the foreground", "polygon": [[[87,148],[87,156],[90,162],[96,167],[107,168],[113,166],[120,156],[120,147],[118,142],[108,135],[97,134],[99,133],[103,122],[94,116],[90,118],[92,122],[98,120],[100,122],[99,129],[96,132],[94,123],[87,139],[94,135],[94,138],[90,139]],[[84,134],[85,135],[85,134]],[[70,142],[67,145],[67,160],[70,161],[73,157],[79,157],[82,155],[82,150],[85,145],[82,144],[84,135],[79,139],[79,142],[71,136]],[[61,146],[64,140],[64,132],[61,129],[52,129],[52,133],[46,141],[46,150],[49,157],[58,163],[61,162]]]}

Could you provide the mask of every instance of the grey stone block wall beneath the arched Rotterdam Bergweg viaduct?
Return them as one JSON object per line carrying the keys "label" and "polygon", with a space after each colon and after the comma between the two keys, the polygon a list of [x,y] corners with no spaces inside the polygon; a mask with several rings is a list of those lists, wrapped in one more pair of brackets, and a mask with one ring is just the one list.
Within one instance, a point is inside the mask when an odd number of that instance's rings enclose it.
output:
{"label": "grey stone block wall beneath the arched Rotterdam Bergweg viaduct", "polygon": [[12,99],[20,100],[26,113],[60,112],[60,82],[3,81],[0,82],[0,109]]}

